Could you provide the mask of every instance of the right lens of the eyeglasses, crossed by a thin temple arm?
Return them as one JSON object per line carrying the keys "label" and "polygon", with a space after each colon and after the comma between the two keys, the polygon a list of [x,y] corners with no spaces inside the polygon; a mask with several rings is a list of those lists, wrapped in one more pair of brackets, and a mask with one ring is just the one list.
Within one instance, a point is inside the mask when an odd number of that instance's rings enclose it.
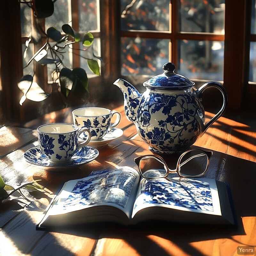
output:
{"label": "right lens of the eyeglasses, crossed by a thin temple arm", "polygon": [[202,175],[208,166],[208,157],[201,150],[188,151],[180,159],[179,171],[181,176]]}

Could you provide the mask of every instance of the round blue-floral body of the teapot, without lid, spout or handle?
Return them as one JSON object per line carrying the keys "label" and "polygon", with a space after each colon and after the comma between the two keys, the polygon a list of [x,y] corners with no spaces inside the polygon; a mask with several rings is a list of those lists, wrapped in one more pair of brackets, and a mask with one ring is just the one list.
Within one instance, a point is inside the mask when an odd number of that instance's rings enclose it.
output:
{"label": "round blue-floral body of the teapot, without lid, spout or handle", "polygon": [[192,93],[174,96],[150,92],[138,109],[137,131],[151,151],[184,152],[201,132],[197,109],[204,111]]}

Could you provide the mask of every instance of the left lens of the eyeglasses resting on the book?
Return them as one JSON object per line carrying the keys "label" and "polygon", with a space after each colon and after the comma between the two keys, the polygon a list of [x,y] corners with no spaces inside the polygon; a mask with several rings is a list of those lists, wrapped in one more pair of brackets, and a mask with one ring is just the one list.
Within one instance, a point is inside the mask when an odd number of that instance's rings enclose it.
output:
{"label": "left lens of the eyeglasses resting on the book", "polygon": [[148,179],[161,178],[167,174],[164,164],[152,156],[141,158],[139,168],[142,176]]}

